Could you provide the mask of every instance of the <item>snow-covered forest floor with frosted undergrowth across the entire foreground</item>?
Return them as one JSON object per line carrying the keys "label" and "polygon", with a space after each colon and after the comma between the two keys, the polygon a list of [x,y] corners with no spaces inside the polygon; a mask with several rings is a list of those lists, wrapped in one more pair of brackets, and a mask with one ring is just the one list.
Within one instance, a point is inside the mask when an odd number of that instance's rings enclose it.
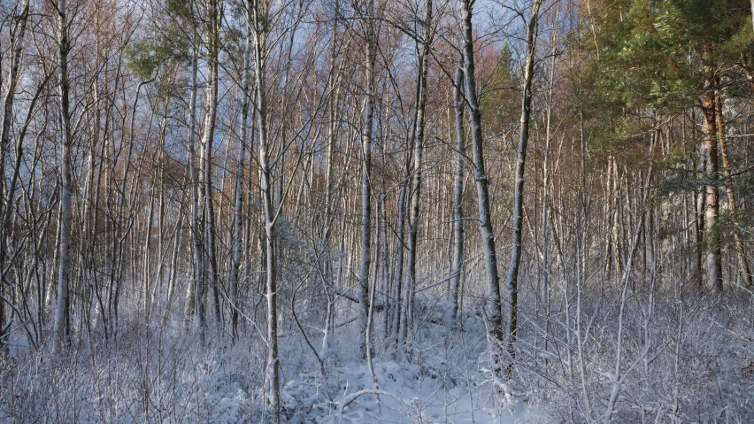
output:
{"label": "snow-covered forest floor with frosted undergrowth across the entire foreground", "polygon": [[[406,350],[375,336],[376,387],[359,358],[357,326],[337,328],[321,375],[312,349],[289,323],[280,339],[282,421],[754,422],[751,305],[687,302],[658,305],[649,332],[642,310],[627,308],[612,407],[614,308],[585,305],[594,318],[582,332],[581,351],[574,333],[556,326],[550,342],[542,342],[536,317],[523,315],[516,382],[506,383],[513,397],[493,387],[484,328],[473,310],[465,312],[463,330],[449,331],[439,308]],[[147,321],[131,311],[115,340],[92,333],[65,353],[17,344],[10,356],[0,355],[0,423],[270,422],[261,332],[230,343],[211,331],[203,346],[185,331],[180,312]],[[312,328],[310,337],[321,342]]]}

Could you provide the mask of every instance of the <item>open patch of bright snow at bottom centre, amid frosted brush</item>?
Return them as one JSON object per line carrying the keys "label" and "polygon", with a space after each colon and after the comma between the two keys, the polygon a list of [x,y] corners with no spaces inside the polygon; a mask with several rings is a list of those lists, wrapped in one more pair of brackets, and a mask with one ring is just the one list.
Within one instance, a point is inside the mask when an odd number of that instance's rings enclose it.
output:
{"label": "open patch of bright snow at bottom centre, amid frosted brush", "polygon": [[[325,379],[336,395],[312,402],[316,379],[289,382],[283,389],[284,409],[289,422],[324,423],[536,423],[535,409],[514,402],[501,409],[492,405],[489,385],[473,382],[450,387],[436,374],[427,374],[416,364],[396,361],[374,362],[380,390],[373,383],[365,363],[340,366]],[[334,384],[336,383],[336,384]],[[375,396],[374,392],[379,391]]]}

